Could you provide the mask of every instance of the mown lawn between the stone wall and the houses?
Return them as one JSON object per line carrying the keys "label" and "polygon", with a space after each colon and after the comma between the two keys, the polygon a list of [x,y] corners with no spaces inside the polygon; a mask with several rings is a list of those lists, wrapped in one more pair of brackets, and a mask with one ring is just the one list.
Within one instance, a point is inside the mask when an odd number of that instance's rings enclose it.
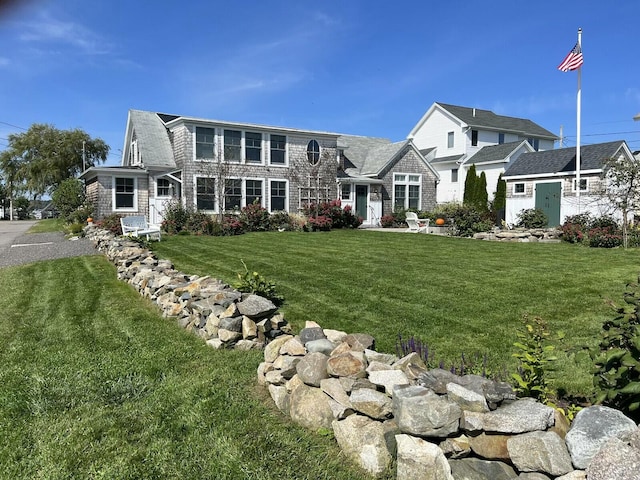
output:
{"label": "mown lawn between the stone wall and the houses", "polygon": [[494,370],[513,368],[523,315],[540,316],[567,333],[556,384],[573,395],[588,394],[593,378],[581,347],[596,343],[612,314],[606,301],[621,299],[640,265],[638,250],[354,230],[174,236],[153,248],[184,272],[227,282],[243,260],[276,283],[295,327],[370,333],[387,352],[398,334],[415,336],[447,364],[486,354]]}

